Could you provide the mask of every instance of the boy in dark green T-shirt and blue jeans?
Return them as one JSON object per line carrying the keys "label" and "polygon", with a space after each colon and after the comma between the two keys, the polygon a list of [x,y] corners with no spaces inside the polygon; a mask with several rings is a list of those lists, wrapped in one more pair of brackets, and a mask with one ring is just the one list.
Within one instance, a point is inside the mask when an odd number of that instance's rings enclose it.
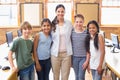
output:
{"label": "boy in dark green T-shirt and blue jeans", "polygon": [[[34,80],[33,42],[29,39],[32,26],[28,22],[23,22],[20,28],[22,36],[13,42],[8,53],[8,59],[12,70],[19,72],[20,80]],[[15,52],[17,67],[13,63],[13,52]]]}

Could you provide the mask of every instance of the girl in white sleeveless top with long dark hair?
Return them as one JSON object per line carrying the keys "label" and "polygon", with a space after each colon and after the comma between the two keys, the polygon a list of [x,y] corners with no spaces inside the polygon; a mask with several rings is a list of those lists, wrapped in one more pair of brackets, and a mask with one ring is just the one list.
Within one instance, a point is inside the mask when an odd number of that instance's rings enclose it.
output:
{"label": "girl in white sleeveless top with long dark hair", "polygon": [[90,69],[93,80],[102,80],[105,46],[104,38],[99,34],[99,25],[92,20],[87,24],[87,51],[90,51]]}

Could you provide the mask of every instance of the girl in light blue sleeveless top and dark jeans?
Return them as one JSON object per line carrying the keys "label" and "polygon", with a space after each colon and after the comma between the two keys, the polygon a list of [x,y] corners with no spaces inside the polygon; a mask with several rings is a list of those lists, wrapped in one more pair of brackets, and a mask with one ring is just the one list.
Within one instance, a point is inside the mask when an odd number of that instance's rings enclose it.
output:
{"label": "girl in light blue sleeveless top and dark jeans", "polygon": [[52,24],[48,18],[41,22],[42,32],[34,38],[34,59],[38,80],[49,80],[51,68],[50,47],[52,39],[50,36]]}

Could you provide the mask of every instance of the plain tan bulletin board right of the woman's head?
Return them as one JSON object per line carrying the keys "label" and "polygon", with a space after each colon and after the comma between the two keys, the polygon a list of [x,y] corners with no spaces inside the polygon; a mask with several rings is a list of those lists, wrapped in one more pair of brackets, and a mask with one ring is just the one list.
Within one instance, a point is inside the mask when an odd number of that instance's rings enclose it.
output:
{"label": "plain tan bulletin board right of the woman's head", "polygon": [[76,3],[76,14],[82,14],[84,16],[84,26],[86,26],[90,20],[96,20],[99,22],[99,4]]}

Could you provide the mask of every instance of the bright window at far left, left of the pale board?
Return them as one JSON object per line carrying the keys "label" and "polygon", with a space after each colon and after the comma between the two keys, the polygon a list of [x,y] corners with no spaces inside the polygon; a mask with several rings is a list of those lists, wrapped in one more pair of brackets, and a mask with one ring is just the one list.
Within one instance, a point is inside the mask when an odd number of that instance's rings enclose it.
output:
{"label": "bright window at far left, left of the pale board", "polygon": [[0,0],[0,26],[17,26],[16,0]]}

